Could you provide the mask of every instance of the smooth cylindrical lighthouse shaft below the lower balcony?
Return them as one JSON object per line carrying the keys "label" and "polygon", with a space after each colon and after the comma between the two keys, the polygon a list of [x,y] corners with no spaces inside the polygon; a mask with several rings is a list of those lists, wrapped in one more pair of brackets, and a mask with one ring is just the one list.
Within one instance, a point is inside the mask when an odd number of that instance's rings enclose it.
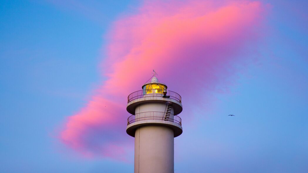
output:
{"label": "smooth cylindrical lighthouse shaft below the lower balcony", "polygon": [[160,125],[146,125],[135,132],[135,173],[174,172],[174,132]]}

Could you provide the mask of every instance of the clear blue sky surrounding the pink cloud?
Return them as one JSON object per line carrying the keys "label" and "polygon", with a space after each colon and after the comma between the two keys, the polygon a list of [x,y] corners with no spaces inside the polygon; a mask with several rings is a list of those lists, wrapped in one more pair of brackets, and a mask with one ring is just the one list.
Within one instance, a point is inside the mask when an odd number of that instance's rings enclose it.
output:
{"label": "clear blue sky surrounding the pink cloud", "polygon": [[[182,117],[175,172],[308,171],[307,2],[263,2],[268,32],[249,57],[259,59],[217,86],[206,111]],[[0,2],[0,172],[133,171],[133,162],[85,158],[55,132],[106,79],[99,64],[108,30],[137,6]]]}

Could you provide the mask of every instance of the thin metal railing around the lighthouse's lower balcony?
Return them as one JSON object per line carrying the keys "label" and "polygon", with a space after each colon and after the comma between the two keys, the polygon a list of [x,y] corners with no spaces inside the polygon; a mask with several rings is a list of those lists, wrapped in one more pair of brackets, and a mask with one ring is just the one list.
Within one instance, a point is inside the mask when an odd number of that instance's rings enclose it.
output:
{"label": "thin metal railing around the lighthouse's lower balcony", "polygon": [[167,115],[167,112],[141,112],[135,115],[131,115],[127,119],[127,125],[134,123],[136,121],[147,120],[147,119],[157,119],[162,121],[171,121],[182,126],[182,120],[179,116],[170,114]]}

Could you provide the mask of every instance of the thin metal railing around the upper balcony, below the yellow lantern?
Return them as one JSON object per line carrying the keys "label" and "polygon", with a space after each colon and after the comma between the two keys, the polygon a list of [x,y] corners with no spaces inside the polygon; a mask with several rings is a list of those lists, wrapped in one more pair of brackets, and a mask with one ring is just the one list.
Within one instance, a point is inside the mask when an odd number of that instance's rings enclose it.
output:
{"label": "thin metal railing around the upper balcony, below the yellow lantern", "polygon": [[[135,91],[132,94],[128,95],[128,102],[131,102],[135,99],[143,98],[143,97],[163,97],[163,90],[161,89],[148,89],[148,90],[139,90]],[[168,91],[167,96],[169,96],[170,99],[174,99],[181,103],[182,98],[179,94],[173,91]]]}

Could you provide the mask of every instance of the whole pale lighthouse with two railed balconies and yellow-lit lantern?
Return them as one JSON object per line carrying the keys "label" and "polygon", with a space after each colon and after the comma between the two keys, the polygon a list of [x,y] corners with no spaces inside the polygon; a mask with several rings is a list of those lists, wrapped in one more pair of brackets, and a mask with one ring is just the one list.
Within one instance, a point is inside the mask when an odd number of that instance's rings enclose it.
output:
{"label": "whole pale lighthouse with two railed balconies and yellow-lit lantern", "polygon": [[128,96],[126,132],[135,137],[135,173],[173,173],[174,137],[182,134],[181,96],[154,77]]}

